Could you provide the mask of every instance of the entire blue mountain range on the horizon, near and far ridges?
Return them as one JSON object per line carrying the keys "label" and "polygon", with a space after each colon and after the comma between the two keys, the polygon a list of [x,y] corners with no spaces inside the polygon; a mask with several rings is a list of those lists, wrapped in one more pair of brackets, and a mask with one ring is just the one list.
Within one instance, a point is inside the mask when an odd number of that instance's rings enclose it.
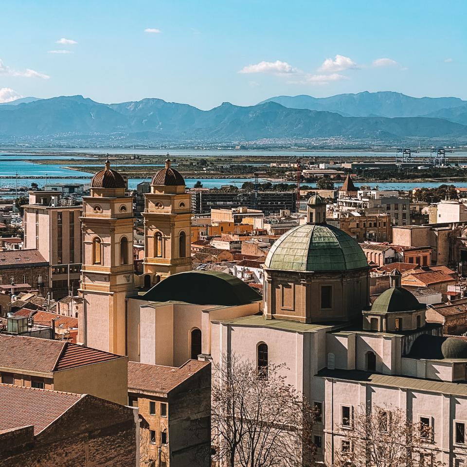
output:
{"label": "entire blue mountain range on the horizon, near and far ridges", "polygon": [[250,107],[224,102],[210,110],[155,98],[102,104],[78,95],[15,102],[0,106],[0,141],[99,135],[146,143],[310,138],[467,142],[467,101],[454,97],[417,99],[388,92],[323,99],[280,96]]}

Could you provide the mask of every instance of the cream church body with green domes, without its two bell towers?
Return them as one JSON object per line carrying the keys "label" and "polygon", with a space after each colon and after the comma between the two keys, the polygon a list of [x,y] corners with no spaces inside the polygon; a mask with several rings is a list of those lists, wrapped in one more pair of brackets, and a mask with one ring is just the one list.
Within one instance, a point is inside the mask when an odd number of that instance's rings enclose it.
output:
{"label": "cream church body with green domes, without its two bell towers", "polygon": [[[174,229],[169,235],[176,241]],[[262,301],[229,274],[170,274],[127,298],[117,334],[141,363],[220,362],[233,353],[258,367],[284,363],[287,381],[321,409],[314,440],[326,465],[344,446],[347,414],[385,403],[430,425],[424,449],[433,460],[466,465],[467,342],[426,321],[426,305],[400,287],[397,271],[370,306],[368,269],[359,245],[326,224],[325,201],[314,196],[307,223],[269,251]],[[102,313],[93,307],[88,313]]]}

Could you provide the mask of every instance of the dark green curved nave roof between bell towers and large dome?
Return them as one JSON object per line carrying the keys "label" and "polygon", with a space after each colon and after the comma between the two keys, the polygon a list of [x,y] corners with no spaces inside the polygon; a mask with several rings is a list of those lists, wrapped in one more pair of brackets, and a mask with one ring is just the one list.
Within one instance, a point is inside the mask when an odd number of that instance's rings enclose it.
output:
{"label": "dark green curved nave roof between bell towers and large dome", "polygon": [[262,299],[258,292],[238,277],[214,271],[173,274],[140,298],[150,302],[185,302],[194,305],[246,305]]}

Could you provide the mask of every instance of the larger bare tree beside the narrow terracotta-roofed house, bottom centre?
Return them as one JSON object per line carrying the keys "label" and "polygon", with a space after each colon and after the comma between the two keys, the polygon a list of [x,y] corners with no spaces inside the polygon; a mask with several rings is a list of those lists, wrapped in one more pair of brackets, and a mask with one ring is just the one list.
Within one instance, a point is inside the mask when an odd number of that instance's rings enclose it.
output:
{"label": "larger bare tree beside the narrow terracotta-roofed house, bottom centre", "polygon": [[258,371],[250,360],[223,356],[214,365],[212,427],[214,461],[229,467],[310,465],[315,412],[281,370]]}

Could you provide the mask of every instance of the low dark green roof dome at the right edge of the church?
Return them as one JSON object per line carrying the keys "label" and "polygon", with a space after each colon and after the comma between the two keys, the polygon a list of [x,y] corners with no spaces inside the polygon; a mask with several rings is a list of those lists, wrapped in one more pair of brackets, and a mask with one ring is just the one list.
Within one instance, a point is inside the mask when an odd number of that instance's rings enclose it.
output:
{"label": "low dark green roof dome at the right edge of the church", "polygon": [[422,334],[413,342],[410,357],[418,359],[467,359],[467,341],[456,337]]}

